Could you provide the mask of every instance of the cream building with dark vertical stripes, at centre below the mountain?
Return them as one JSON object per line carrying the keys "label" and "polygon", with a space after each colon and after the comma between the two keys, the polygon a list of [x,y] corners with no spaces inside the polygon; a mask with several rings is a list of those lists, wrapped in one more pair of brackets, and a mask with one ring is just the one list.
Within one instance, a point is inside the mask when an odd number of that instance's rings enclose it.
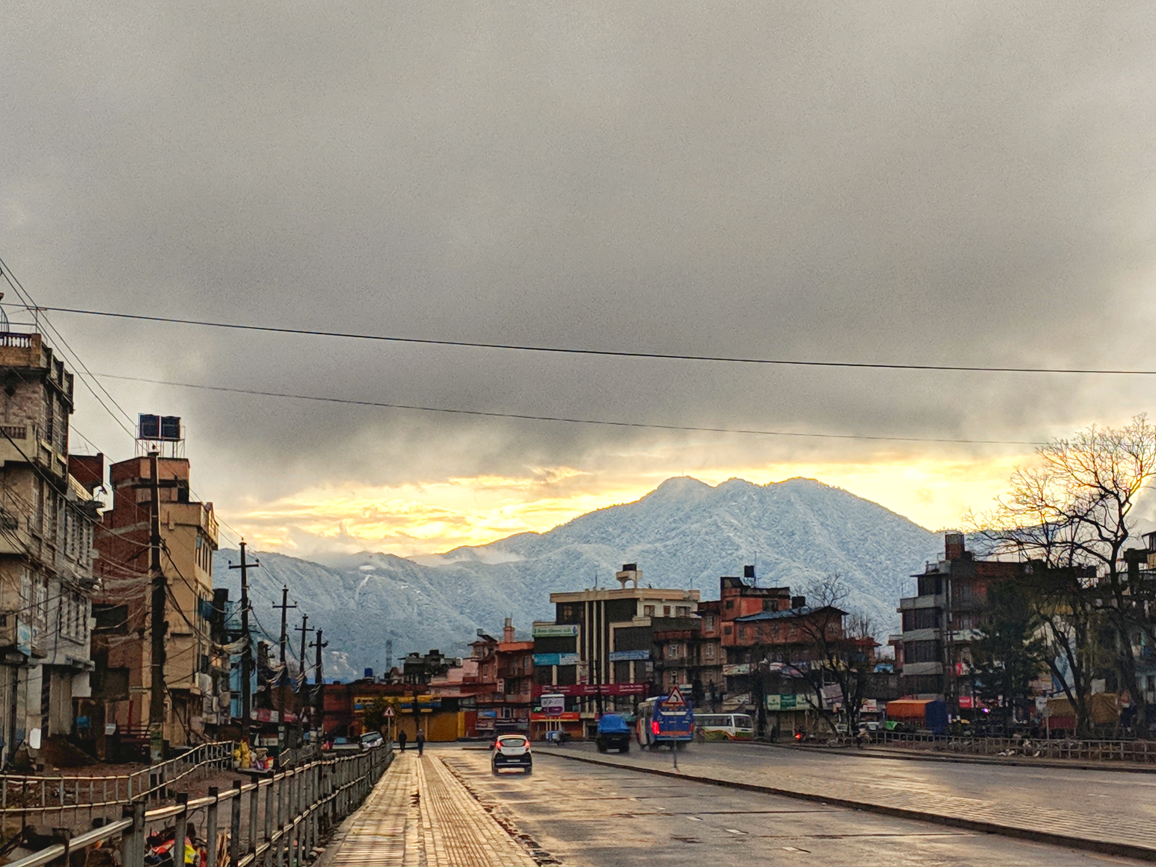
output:
{"label": "cream building with dark vertical stripes, at centre below the mountain", "polygon": [[652,690],[655,631],[697,629],[698,591],[640,586],[635,563],[615,577],[616,590],[551,593],[554,622],[534,624],[535,697],[566,696],[587,729],[599,712],[631,709]]}

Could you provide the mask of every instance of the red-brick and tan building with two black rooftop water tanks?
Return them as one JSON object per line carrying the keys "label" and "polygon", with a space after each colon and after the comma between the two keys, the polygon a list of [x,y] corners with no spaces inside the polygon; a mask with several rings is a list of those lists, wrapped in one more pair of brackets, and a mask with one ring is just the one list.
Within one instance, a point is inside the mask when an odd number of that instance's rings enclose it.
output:
{"label": "red-brick and tan building with two black rooftop water tanks", "polygon": [[[101,628],[94,637],[98,697],[103,722],[117,726],[121,743],[143,741],[151,689],[149,536],[153,510],[150,453],[156,452],[161,569],[168,581],[164,664],[164,740],[175,746],[197,742],[206,732],[206,714],[220,713],[218,684],[227,665],[210,642],[213,551],[217,520],[212,503],[200,503],[190,489],[188,460],[183,457],[180,420],[141,416],[138,454],[113,464],[112,509],[103,516],[97,539],[97,600]],[[151,425],[151,427],[150,427]],[[213,709],[217,707],[216,711]]]}

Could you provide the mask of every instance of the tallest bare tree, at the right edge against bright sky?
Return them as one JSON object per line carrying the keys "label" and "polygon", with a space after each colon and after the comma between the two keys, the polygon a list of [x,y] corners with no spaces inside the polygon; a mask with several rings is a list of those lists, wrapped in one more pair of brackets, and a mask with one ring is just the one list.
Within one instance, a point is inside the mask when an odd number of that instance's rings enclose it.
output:
{"label": "tallest bare tree, at the right edge against bright sky", "polygon": [[[1122,560],[1134,535],[1136,499],[1156,476],[1156,427],[1139,415],[1119,429],[1091,427],[1053,440],[1036,455],[1035,466],[1013,473],[1010,491],[995,510],[971,521],[999,550],[1039,561],[1047,570],[1050,579],[1033,581],[1033,590],[1050,644],[1075,680],[1070,687],[1067,680],[1061,683],[1080,716],[1087,712],[1085,666],[1097,622],[1111,631],[1117,676],[1144,734],[1148,707],[1136,677],[1133,636],[1143,632],[1156,642],[1151,606],[1146,605],[1153,587]],[[1087,727],[1085,718],[1082,725]]]}

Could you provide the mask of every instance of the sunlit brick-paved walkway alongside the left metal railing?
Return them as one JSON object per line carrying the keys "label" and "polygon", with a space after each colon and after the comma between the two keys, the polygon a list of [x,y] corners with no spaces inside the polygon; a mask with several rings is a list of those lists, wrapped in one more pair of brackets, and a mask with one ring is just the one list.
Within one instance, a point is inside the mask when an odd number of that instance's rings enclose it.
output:
{"label": "sunlit brick-paved walkway alongside the left metal railing", "polygon": [[535,867],[436,755],[401,753],[326,867]]}

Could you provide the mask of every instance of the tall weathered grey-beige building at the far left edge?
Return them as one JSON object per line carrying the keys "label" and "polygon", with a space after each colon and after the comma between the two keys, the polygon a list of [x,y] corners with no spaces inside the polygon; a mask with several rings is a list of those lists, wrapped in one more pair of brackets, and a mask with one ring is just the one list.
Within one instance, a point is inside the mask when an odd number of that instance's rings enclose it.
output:
{"label": "tall weathered grey-beige building at the far left edge", "polygon": [[[0,758],[75,728],[89,695],[99,487],[73,477],[73,375],[39,334],[0,333]],[[91,469],[101,458],[88,459]],[[79,465],[77,465],[79,466]],[[79,732],[88,735],[89,732]]]}

